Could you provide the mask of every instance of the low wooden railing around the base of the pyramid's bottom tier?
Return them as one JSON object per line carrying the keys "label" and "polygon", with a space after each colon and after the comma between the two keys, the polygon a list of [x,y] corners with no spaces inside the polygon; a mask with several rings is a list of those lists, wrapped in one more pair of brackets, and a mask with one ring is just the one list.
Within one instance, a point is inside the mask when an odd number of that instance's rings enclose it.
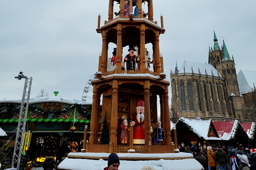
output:
{"label": "low wooden railing around the base of the pyramid's bottom tier", "polygon": [[174,153],[174,145],[86,145],[86,152],[104,152],[104,153],[127,153],[128,150],[134,149],[139,154],[165,154]]}

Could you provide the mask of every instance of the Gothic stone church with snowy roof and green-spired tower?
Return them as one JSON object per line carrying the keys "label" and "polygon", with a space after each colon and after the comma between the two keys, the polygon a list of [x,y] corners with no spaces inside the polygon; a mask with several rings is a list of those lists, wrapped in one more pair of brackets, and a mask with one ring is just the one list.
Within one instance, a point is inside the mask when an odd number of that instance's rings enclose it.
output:
{"label": "Gothic stone church with snowy roof and green-spired tower", "polygon": [[200,117],[212,120],[247,121],[243,96],[237,81],[234,58],[226,44],[220,48],[214,32],[208,64],[183,62],[171,71],[172,118]]}

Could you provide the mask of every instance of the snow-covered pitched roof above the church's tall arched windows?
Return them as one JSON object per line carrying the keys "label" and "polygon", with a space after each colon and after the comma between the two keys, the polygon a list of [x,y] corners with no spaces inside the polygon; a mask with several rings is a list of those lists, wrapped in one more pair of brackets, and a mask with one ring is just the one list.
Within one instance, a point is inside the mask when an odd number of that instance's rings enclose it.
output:
{"label": "snow-covered pitched roof above the church's tall arched windows", "polygon": [[[193,72],[195,74],[199,74],[199,70],[200,70],[202,75],[206,75],[206,73],[208,75],[212,75],[213,73],[215,77],[218,77],[218,76],[222,77],[220,72],[218,72],[218,70],[216,70],[211,64],[184,61],[179,69],[179,73],[184,73],[184,68],[185,68],[185,73],[192,73],[192,69],[193,69]],[[205,70],[206,70],[206,73],[205,73]]]}

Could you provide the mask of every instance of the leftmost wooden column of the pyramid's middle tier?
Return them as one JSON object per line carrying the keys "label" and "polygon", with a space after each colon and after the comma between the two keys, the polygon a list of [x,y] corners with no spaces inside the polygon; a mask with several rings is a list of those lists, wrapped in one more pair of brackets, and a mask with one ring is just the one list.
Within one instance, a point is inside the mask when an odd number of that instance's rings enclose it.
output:
{"label": "leftmost wooden column of the pyramid's middle tier", "polygon": [[106,30],[102,31],[102,57],[101,57],[101,72],[107,71],[107,61],[108,61],[108,42]]}

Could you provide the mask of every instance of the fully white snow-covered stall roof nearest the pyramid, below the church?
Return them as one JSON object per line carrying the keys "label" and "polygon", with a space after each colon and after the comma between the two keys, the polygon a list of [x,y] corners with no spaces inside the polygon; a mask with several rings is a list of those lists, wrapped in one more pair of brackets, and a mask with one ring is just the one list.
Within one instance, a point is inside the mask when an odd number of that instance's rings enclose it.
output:
{"label": "fully white snow-covered stall roof nearest the pyramid, below the church", "polygon": [[188,128],[196,133],[199,138],[204,138],[205,140],[221,140],[217,137],[208,137],[208,132],[211,124],[211,120],[194,120],[181,117],[176,124],[183,122],[187,124]]}

